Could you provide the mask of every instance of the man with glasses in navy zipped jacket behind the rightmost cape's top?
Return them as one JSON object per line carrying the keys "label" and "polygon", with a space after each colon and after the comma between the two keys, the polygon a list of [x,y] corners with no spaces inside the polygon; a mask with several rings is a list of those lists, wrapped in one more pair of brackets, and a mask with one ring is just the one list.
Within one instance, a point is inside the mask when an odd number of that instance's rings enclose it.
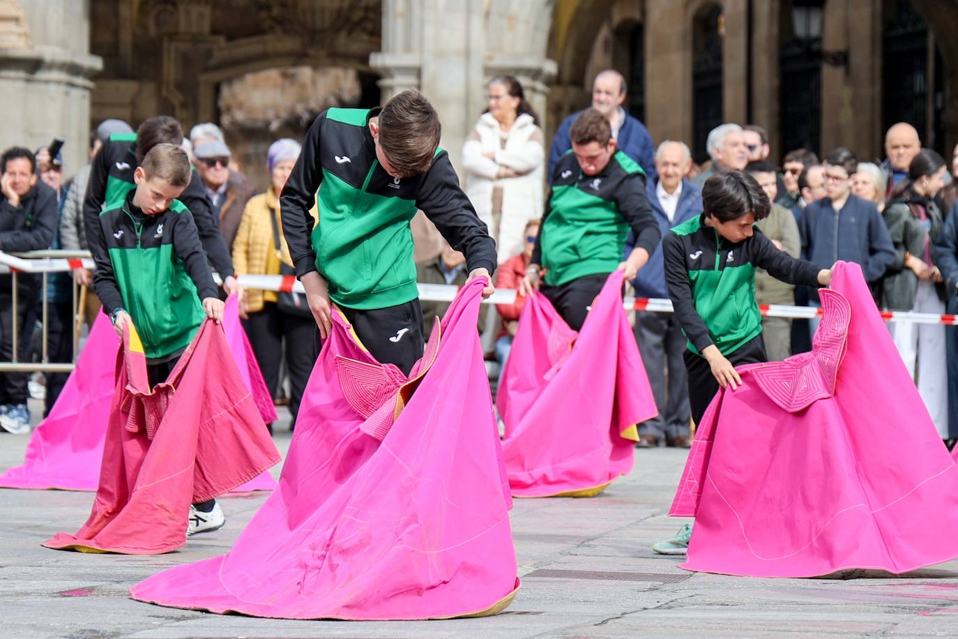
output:
{"label": "man with glasses in navy zipped jacket behind the rightmost cape's top", "polygon": [[[811,202],[798,224],[802,257],[823,268],[839,260],[858,263],[874,288],[895,261],[895,248],[875,204],[851,192],[857,166],[858,158],[848,148],[836,148],[826,158],[827,196]],[[817,291],[811,291],[810,306],[819,306]],[[817,320],[811,320],[812,335],[817,326]]]}

